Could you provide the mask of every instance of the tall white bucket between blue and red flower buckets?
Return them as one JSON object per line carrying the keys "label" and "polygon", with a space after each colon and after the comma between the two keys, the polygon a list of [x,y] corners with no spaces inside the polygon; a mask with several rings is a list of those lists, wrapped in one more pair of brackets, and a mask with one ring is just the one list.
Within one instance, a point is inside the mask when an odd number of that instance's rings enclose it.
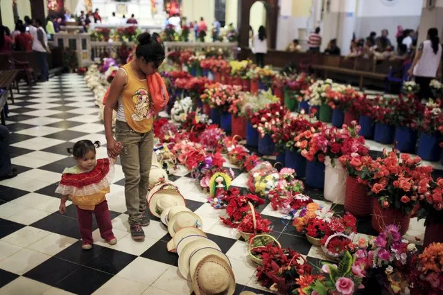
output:
{"label": "tall white bucket between blue and red flower buckets", "polygon": [[345,204],[346,192],[346,171],[338,159],[333,159],[334,167],[331,159],[326,157],[324,165],[324,199],[335,204]]}

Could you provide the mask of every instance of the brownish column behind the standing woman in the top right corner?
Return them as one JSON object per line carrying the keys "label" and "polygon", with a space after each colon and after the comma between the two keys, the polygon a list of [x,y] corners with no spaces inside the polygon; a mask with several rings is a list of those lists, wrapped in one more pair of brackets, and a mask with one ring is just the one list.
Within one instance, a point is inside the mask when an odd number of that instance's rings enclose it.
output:
{"label": "brownish column behind the standing woman in the top right corner", "polygon": [[[435,4],[430,6],[429,4]],[[437,28],[440,34],[440,43],[443,39],[443,0],[423,0],[422,17],[419,25],[417,44],[426,40],[428,28]]]}

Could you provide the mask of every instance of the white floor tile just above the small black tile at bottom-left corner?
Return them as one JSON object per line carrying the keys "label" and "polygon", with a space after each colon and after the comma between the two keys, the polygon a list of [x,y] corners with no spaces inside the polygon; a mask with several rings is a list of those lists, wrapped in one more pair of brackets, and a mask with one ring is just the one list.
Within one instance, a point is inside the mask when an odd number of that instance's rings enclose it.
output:
{"label": "white floor tile just above the small black tile at bottom-left corner", "polygon": [[[21,249],[15,254],[12,254],[8,258],[1,260],[0,269],[10,271],[14,274],[26,274],[37,265],[48,260],[51,256],[33,251],[30,249]],[[46,290],[45,290],[46,291]],[[22,293],[26,294],[26,293]]]}

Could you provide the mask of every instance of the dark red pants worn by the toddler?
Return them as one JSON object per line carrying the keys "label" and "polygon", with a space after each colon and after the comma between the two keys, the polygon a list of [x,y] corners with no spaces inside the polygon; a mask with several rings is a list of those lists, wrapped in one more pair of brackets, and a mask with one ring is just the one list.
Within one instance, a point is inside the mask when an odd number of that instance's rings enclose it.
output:
{"label": "dark red pants worn by the toddler", "polygon": [[78,227],[80,228],[83,244],[92,244],[94,242],[92,239],[92,213],[96,215],[101,238],[106,241],[112,240],[114,233],[112,233],[110,210],[105,200],[96,205],[94,210],[83,210],[77,206]]}

